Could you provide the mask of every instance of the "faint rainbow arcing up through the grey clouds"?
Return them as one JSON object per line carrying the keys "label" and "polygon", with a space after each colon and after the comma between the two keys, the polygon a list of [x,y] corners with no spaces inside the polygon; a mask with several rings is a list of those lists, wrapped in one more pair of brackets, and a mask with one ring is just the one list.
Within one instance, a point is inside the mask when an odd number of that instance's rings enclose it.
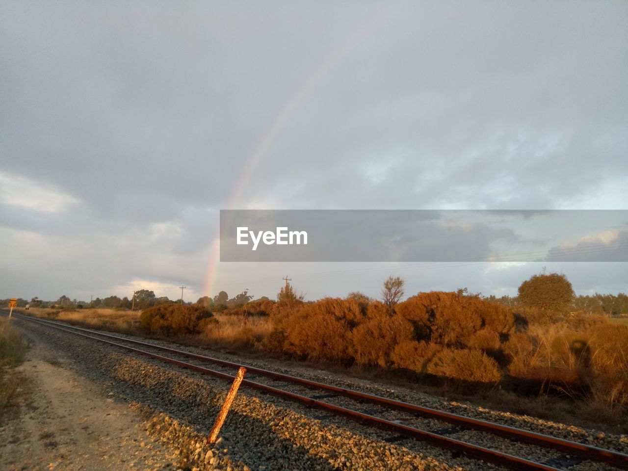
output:
{"label": "faint rainbow arcing up through the grey clouds", "polygon": [[[288,121],[288,118],[301,104],[303,98],[310,94],[311,90],[315,87],[315,85],[317,85],[321,78],[325,77],[325,75],[327,75],[342,58],[349,55],[349,53],[355,50],[355,48],[357,48],[357,46],[359,46],[372,31],[379,28],[384,21],[387,21],[396,13],[398,13],[398,8],[394,10],[387,9],[387,11],[377,14],[371,21],[362,25],[357,31],[349,36],[349,40],[347,40],[342,47],[332,51],[332,53],[325,58],[325,60],[318,64],[318,66],[305,78],[303,83],[295,90],[295,92],[290,95],[284,106],[279,110],[277,116],[271,122],[271,125],[266,129],[261,139],[257,142],[251,156],[246,161],[244,171],[242,171],[236,187],[231,193],[229,200],[227,200],[227,209],[236,208],[241,200],[242,192],[244,192],[244,188],[246,188],[246,185],[251,178],[253,170],[257,167],[257,163],[259,163],[261,158],[264,156],[269,145],[279,134],[286,121]],[[205,278],[205,283],[203,284],[203,293],[207,293],[208,296],[212,296],[212,293],[214,293],[215,281],[218,277],[220,264],[219,241],[220,229],[218,230],[214,241],[212,241],[212,246],[210,247],[207,276]]]}

